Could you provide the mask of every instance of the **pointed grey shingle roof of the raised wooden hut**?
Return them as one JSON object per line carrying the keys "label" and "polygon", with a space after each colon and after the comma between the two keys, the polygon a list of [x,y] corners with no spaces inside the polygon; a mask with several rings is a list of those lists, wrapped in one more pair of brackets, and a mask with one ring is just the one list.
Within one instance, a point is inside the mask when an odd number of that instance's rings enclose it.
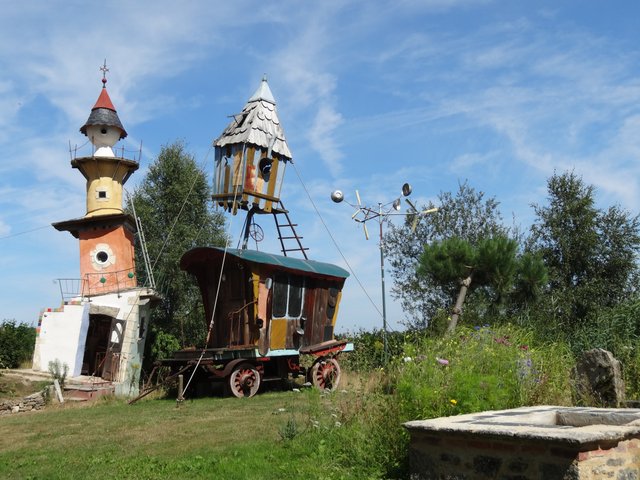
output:
{"label": "pointed grey shingle roof of the raised wooden hut", "polygon": [[247,101],[242,113],[233,116],[233,120],[213,143],[216,147],[230,144],[248,143],[257,147],[269,148],[285,160],[291,160],[291,152],[284,136],[266,76],[260,87]]}

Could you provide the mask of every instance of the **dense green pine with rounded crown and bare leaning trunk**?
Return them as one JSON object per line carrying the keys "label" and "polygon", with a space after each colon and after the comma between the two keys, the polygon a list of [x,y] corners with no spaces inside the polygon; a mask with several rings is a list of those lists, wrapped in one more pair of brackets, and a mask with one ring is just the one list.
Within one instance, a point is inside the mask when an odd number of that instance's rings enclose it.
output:
{"label": "dense green pine with rounded crown and bare leaning trunk", "polygon": [[483,238],[476,246],[457,237],[425,245],[418,276],[446,290],[459,288],[449,333],[455,330],[471,289],[483,289],[493,315],[510,299],[530,300],[539,294],[547,280],[542,261],[529,254],[518,256],[517,252],[517,241],[504,235]]}

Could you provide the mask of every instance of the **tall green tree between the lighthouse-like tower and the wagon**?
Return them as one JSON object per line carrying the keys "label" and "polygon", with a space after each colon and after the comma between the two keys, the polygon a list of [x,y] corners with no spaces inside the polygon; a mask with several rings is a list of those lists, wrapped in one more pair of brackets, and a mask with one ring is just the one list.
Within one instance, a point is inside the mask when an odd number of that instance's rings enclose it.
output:
{"label": "tall green tree between the lighthouse-like tower and the wagon", "polygon": [[[227,241],[224,218],[213,211],[207,176],[185,151],[182,142],[161,148],[158,158],[128,200],[142,221],[156,286],[162,302],[153,309],[151,352],[155,346],[202,343],[206,334],[200,292],[192,278],[180,270],[180,258],[197,246],[222,246]],[[141,249],[136,249],[139,278],[146,278]],[[159,335],[158,332],[162,332]],[[157,347],[157,348],[156,348]]]}

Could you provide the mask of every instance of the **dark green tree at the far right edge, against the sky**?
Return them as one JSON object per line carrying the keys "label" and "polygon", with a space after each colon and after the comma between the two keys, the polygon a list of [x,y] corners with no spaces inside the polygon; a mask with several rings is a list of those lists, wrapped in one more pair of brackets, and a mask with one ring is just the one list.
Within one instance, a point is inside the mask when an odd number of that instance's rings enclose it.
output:
{"label": "dark green tree at the far right edge, against the sky", "polygon": [[573,172],[554,174],[547,191],[548,204],[533,206],[529,248],[549,270],[544,316],[571,332],[635,291],[640,221],[619,206],[597,208],[594,187]]}

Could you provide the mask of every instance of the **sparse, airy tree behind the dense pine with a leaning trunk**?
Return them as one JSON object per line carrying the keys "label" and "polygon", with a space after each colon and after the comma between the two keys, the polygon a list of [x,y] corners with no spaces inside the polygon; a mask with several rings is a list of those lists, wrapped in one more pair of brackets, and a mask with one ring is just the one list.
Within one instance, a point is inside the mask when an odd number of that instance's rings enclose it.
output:
{"label": "sparse, airy tree behind the dense pine with a leaning trunk", "polygon": [[385,255],[394,285],[391,294],[400,300],[406,312],[405,325],[424,328],[458,290],[456,284],[438,284],[418,275],[418,259],[424,245],[458,238],[475,246],[483,238],[506,235],[499,203],[493,197],[471,187],[466,181],[458,191],[440,192],[436,203],[419,207],[437,207],[434,214],[421,216],[413,229],[414,218],[408,216],[401,226],[390,225],[385,235]]}

